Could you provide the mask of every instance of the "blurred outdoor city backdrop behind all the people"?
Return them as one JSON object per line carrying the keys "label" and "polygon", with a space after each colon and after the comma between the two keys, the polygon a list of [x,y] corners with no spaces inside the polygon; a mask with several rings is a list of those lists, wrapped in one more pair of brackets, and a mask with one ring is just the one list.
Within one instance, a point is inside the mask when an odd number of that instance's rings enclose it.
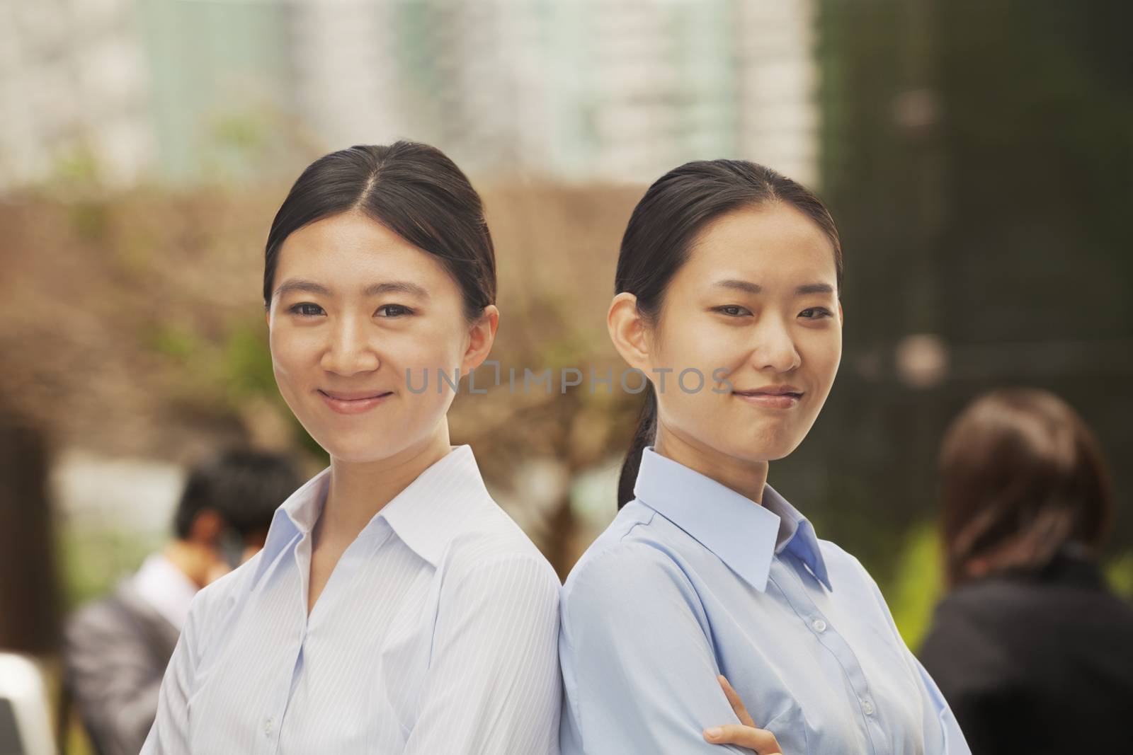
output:
{"label": "blurred outdoor city backdrop behind all the people", "polygon": [[[742,157],[812,187],[845,249],[845,355],[770,482],[915,647],[943,429],[986,389],[1048,388],[1105,445],[1107,573],[1133,594],[1131,24],[1118,1],[0,0],[0,396],[46,449],[17,508],[52,513],[0,561],[58,576],[2,609],[105,593],[212,449],[325,464],[272,377],[264,240],[307,163],[397,138],[485,199],[504,370],[621,369],[617,244],[670,168]],[[638,409],[616,380],[504,387],[458,397],[453,441],[565,575],[615,513]]]}

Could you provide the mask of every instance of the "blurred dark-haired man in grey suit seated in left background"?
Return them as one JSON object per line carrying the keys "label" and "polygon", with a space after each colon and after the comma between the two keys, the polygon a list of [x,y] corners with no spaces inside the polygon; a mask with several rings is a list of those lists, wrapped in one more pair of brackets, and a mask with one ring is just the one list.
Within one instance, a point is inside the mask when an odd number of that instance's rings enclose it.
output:
{"label": "blurred dark-haired man in grey suit seated in left background", "polygon": [[189,472],[173,539],[66,628],[66,681],[100,755],[137,755],[197,591],[258,551],[303,479],[281,455],[224,452]]}

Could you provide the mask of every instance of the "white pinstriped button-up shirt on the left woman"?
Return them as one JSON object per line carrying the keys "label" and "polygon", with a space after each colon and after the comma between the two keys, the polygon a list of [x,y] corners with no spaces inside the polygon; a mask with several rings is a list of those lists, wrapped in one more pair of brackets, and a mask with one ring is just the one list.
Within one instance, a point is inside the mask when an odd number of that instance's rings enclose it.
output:
{"label": "white pinstriped button-up shirt on the left woman", "polygon": [[324,470],[202,590],[142,752],[557,752],[559,580],[454,448],[346,549],[307,615]]}

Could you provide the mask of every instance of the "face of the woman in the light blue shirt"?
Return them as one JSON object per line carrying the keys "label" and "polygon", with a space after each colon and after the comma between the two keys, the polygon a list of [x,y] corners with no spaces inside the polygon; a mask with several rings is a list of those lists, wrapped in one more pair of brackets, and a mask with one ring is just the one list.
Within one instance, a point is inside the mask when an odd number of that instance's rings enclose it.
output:
{"label": "face of the woman in the light blue shirt", "polygon": [[[710,223],[668,284],[646,328],[647,371],[670,368],[658,389],[664,431],[743,461],[798,447],[829,395],[842,358],[842,308],[834,249],[784,204]],[[705,376],[687,392],[685,368]],[[698,379],[689,372],[684,387]]]}

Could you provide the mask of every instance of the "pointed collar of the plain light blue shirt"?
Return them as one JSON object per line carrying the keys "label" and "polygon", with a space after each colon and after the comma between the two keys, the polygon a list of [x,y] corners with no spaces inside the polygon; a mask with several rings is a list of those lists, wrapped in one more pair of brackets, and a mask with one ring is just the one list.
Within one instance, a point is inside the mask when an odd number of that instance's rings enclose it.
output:
{"label": "pointed collar of the plain light blue shirt", "polygon": [[784,550],[833,590],[813,526],[770,486],[764,487],[759,505],[649,446],[641,454],[633,495],[760,592],[767,589],[772,558]]}

